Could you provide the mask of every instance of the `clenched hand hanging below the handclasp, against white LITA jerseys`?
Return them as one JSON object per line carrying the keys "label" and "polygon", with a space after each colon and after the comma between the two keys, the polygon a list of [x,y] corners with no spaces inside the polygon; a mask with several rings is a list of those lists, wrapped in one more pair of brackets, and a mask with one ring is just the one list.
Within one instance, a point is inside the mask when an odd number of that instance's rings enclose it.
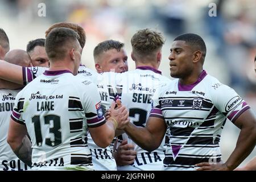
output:
{"label": "clenched hand hanging below the handclasp, against white LITA jerseys", "polygon": [[[117,142],[117,140],[115,141]],[[116,148],[116,143],[114,146],[114,151]],[[115,162],[118,166],[126,166],[132,164],[136,158],[137,151],[134,150],[134,145],[129,144],[127,140],[123,140],[118,146],[117,150],[114,152]]]}

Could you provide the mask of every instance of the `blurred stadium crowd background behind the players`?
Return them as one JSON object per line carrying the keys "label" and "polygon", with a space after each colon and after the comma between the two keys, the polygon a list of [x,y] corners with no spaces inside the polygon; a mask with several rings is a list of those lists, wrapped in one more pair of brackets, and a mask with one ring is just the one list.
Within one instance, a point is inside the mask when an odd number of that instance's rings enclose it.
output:
{"label": "blurred stadium crowd background behind the players", "polygon": [[[46,16],[40,17],[39,3]],[[210,17],[210,3],[217,16]],[[255,0],[0,0],[0,27],[10,39],[10,49],[24,49],[28,41],[44,38],[56,22],[73,22],[84,27],[86,44],[82,62],[94,69],[93,48],[106,39],[125,43],[130,55],[131,36],[141,28],[164,33],[160,70],[170,77],[168,55],[176,35],[193,32],[207,44],[204,68],[210,75],[234,88],[256,111],[256,1]],[[129,69],[135,64],[129,57]],[[236,146],[239,131],[230,121],[222,132],[221,150],[226,160]],[[256,149],[241,164],[256,156]]]}

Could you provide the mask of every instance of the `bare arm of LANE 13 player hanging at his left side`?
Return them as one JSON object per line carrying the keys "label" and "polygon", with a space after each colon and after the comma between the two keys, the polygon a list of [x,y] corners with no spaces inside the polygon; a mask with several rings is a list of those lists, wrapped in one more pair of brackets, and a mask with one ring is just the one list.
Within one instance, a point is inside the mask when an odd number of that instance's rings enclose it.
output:
{"label": "bare arm of LANE 13 player hanging at his left side", "polygon": [[32,148],[31,142],[27,137],[26,125],[15,122],[11,118],[7,142],[9,143],[16,156],[18,156],[22,162],[31,167]]}

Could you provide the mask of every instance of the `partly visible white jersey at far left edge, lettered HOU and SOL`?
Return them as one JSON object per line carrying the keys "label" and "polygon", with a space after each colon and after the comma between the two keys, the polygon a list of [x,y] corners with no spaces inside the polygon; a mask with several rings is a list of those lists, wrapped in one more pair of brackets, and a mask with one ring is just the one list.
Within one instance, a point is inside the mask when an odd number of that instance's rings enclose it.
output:
{"label": "partly visible white jersey at far left edge, lettered HOU and SOL", "polygon": [[19,90],[0,90],[0,171],[29,170],[7,143],[10,115],[13,111],[16,94]]}

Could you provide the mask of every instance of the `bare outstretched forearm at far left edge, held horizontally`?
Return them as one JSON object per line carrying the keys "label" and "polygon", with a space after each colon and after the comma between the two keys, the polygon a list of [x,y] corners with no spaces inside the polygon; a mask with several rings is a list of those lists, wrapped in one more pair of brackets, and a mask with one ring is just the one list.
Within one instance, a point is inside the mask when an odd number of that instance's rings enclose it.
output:
{"label": "bare outstretched forearm at far left edge, held horizontally", "polygon": [[0,78],[23,85],[22,67],[0,60]]}

